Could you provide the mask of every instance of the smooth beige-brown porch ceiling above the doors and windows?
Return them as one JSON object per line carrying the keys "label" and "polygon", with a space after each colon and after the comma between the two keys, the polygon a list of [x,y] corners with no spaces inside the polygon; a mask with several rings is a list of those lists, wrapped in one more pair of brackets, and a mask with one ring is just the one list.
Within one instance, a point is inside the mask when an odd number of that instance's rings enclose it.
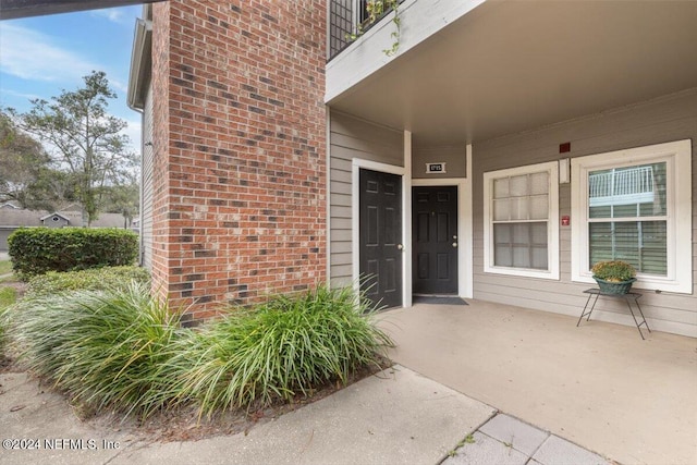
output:
{"label": "smooth beige-brown porch ceiling above the doors and windows", "polygon": [[417,143],[486,140],[696,87],[695,24],[692,1],[487,1],[329,105]]}

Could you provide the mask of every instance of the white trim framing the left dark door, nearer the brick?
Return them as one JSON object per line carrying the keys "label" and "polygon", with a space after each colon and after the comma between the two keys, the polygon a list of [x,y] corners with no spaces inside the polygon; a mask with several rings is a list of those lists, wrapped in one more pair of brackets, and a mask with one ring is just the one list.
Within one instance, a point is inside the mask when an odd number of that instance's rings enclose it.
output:
{"label": "white trim framing the left dark door, nearer the brick", "polygon": [[[411,146],[411,144],[409,144]],[[379,171],[383,173],[391,173],[402,176],[402,208],[405,207],[405,191],[406,185],[409,183],[406,182],[405,172],[406,169],[402,167],[396,167],[394,164],[380,163],[377,161],[364,160],[362,158],[354,158],[351,161],[351,255],[352,255],[352,281],[353,286],[356,292],[359,291],[359,282],[358,278],[360,277],[360,228],[359,228],[359,219],[360,219],[360,169]],[[411,187],[409,187],[411,191]],[[411,217],[411,216],[409,216]],[[402,241],[405,241],[407,236],[405,220],[407,215],[405,211],[402,211]],[[403,242],[405,244],[406,242]],[[402,250],[404,254],[405,250]],[[404,298],[406,295],[406,281],[404,281],[404,276],[406,273],[406,260],[402,259],[402,305],[406,303]],[[409,286],[409,297],[411,297],[411,286]]]}

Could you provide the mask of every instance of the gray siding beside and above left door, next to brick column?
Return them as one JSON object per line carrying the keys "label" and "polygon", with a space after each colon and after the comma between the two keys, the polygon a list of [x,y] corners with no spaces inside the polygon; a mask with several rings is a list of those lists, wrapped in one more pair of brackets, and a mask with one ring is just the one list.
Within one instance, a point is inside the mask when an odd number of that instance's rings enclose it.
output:
{"label": "gray siding beside and above left door, next to brick column", "polygon": [[403,134],[346,114],[330,115],[330,266],[332,285],[352,281],[352,161],[404,166]]}

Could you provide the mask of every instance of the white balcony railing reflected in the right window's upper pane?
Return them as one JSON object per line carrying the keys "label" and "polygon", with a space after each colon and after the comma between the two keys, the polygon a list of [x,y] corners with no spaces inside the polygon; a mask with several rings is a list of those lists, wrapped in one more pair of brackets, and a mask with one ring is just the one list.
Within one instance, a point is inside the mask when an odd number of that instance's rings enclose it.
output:
{"label": "white balcony railing reflected in the right window's upper pane", "polygon": [[653,201],[653,168],[636,167],[591,173],[588,176],[591,207]]}

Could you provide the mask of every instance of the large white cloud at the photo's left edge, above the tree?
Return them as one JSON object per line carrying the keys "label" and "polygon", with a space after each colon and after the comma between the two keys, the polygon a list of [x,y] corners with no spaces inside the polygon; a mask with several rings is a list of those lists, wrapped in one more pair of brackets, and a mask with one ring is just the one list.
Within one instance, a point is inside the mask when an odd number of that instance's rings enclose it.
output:
{"label": "large white cloud at the photo's left edge, above the tree", "polygon": [[57,47],[54,41],[34,29],[0,25],[0,71],[23,79],[68,82],[99,69],[77,53]]}

